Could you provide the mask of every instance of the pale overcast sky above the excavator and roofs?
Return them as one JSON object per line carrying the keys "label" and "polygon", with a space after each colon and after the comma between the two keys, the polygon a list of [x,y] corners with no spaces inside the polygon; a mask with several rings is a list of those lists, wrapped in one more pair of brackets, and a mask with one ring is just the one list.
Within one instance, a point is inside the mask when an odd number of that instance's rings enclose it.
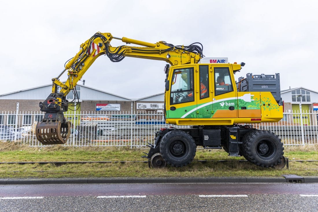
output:
{"label": "pale overcast sky above the excavator and roofs", "polygon": [[[200,42],[207,57],[246,63],[236,80],[280,73],[282,90],[318,91],[318,1],[11,0],[0,6],[0,94],[52,83],[95,32],[151,43]],[[100,56],[83,79],[89,87],[140,98],[164,91],[165,64]]]}

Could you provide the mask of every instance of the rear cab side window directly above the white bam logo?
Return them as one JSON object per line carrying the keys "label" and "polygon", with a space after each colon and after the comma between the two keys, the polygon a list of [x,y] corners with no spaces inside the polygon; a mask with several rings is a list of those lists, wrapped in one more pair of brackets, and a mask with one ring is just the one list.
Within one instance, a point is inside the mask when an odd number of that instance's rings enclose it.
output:
{"label": "rear cab side window directly above the white bam logo", "polygon": [[214,68],[215,79],[215,95],[225,94],[233,91],[232,80],[230,76],[230,70],[228,67],[216,67]]}

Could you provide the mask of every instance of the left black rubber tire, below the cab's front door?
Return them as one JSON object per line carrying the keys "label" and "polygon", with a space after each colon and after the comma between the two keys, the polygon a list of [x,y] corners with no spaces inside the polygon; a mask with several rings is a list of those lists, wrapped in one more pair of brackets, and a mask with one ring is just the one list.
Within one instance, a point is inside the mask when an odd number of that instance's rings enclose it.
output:
{"label": "left black rubber tire, below the cab's front door", "polygon": [[173,130],[165,134],[160,141],[160,153],[170,166],[186,166],[196,155],[197,145],[186,132]]}

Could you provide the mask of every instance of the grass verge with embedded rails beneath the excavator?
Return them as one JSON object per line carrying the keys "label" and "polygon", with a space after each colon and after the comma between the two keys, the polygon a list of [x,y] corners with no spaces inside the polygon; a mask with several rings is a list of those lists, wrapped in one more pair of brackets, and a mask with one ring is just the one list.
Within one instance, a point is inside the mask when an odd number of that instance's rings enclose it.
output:
{"label": "grass verge with embedded rails beneath the excavator", "polygon": [[[28,147],[13,142],[0,142],[0,162],[21,161],[145,161],[140,156],[148,149],[114,147]],[[285,147],[290,160],[318,160],[318,146]],[[86,163],[65,164],[0,164],[0,178],[59,178],[59,177],[190,177],[190,176],[281,176],[297,174],[318,175],[318,162],[290,161],[289,169],[262,168],[244,160],[229,157],[223,150],[197,149],[194,160],[231,160],[225,162],[193,161],[176,168],[149,169],[148,163]]]}

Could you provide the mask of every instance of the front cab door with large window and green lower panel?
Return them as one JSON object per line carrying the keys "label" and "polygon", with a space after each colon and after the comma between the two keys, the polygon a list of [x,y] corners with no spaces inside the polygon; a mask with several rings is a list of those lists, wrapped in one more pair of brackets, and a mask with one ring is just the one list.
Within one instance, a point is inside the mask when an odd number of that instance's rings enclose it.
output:
{"label": "front cab door with large window and green lower panel", "polygon": [[[166,118],[197,118],[195,108],[196,65],[178,66],[170,70],[166,90]],[[189,113],[190,112],[190,113]]]}

